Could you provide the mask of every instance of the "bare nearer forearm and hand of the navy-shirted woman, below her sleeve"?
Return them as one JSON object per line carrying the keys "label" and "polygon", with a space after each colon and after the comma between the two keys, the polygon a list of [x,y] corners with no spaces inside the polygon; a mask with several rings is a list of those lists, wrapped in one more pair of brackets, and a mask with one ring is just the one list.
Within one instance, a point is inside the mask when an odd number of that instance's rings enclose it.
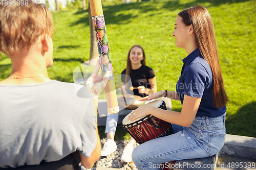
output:
{"label": "bare nearer forearm and hand of the navy-shirted woman, below her sleeve", "polygon": [[134,120],[151,114],[165,120],[166,122],[189,127],[193,123],[193,120],[197,114],[201,99],[202,98],[193,98],[188,95],[184,95],[181,112],[168,111],[159,109],[157,107],[148,106],[136,109],[135,114],[132,114],[128,119]]}

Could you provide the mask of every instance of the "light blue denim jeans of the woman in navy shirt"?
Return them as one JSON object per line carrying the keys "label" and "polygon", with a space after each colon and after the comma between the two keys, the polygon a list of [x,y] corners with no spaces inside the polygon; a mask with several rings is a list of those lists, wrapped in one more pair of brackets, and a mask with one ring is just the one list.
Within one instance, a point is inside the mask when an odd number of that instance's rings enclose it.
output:
{"label": "light blue denim jeans of the woman in navy shirt", "polygon": [[219,117],[196,116],[189,127],[172,124],[172,135],[159,137],[136,147],[132,159],[140,169],[160,169],[173,160],[215,155],[224,145],[226,113]]}

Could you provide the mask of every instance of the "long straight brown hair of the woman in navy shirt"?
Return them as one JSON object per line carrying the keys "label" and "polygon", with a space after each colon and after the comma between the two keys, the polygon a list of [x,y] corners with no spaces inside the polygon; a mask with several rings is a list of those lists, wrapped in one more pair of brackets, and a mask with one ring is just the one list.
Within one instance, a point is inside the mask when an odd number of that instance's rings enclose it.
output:
{"label": "long straight brown hair of the woman in navy shirt", "polygon": [[187,8],[178,14],[186,26],[192,25],[196,43],[203,58],[208,62],[213,78],[212,98],[216,107],[226,106],[228,97],[224,89],[217,43],[210,14],[201,6]]}

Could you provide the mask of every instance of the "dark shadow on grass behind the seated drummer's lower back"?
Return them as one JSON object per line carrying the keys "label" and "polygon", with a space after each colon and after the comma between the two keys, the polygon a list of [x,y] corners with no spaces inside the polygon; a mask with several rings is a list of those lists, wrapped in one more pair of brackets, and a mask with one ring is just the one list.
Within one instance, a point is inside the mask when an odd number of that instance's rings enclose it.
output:
{"label": "dark shadow on grass behind the seated drummer's lower back", "polygon": [[256,137],[256,102],[241,107],[237,113],[227,115],[228,134]]}

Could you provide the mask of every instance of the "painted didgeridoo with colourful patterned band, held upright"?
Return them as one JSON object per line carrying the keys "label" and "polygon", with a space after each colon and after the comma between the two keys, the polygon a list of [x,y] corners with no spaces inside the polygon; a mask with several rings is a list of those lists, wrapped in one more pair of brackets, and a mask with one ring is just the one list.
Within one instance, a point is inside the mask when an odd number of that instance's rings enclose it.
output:
{"label": "painted didgeridoo with colourful patterned band, held upright", "polygon": [[110,48],[108,37],[106,36],[105,19],[100,0],[90,0],[90,8],[92,13],[93,25],[98,44],[99,60],[102,70],[102,76],[106,71],[110,71],[110,79],[106,83],[106,103],[108,104],[108,113],[115,114],[119,112],[117,103],[116,86],[113,76],[113,67],[110,56]]}

